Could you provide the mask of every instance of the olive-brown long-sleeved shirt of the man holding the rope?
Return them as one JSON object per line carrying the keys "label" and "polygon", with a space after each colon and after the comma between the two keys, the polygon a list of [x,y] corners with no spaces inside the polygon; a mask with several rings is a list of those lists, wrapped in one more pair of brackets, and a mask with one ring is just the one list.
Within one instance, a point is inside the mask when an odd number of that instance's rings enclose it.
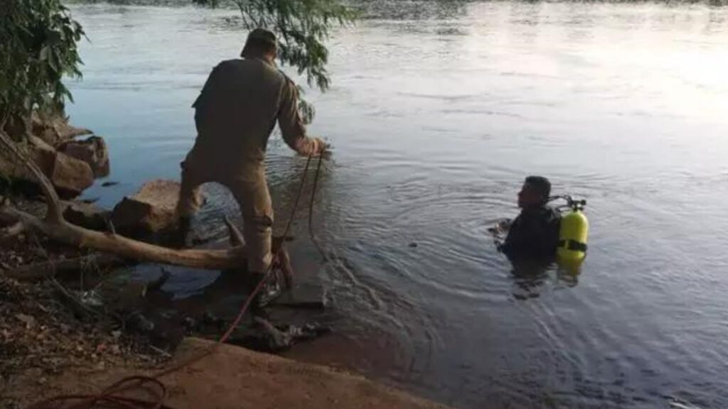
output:
{"label": "olive-brown long-sleeved shirt of the man holding the rope", "polygon": [[290,148],[312,154],[315,143],[306,138],[297,104],[296,85],[271,63],[258,58],[223,61],[193,104],[193,156],[230,171],[244,163],[262,164],[276,122]]}

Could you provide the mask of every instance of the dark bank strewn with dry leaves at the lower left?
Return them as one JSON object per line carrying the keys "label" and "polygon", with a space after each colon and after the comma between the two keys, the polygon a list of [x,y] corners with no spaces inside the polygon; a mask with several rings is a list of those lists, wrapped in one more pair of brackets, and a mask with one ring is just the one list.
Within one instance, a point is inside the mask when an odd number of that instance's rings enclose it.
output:
{"label": "dark bank strewn with dry leaves at the lower left", "polygon": [[0,272],[0,407],[19,407],[68,370],[146,368],[167,359],[79,299],[58,282],[21,283]]}

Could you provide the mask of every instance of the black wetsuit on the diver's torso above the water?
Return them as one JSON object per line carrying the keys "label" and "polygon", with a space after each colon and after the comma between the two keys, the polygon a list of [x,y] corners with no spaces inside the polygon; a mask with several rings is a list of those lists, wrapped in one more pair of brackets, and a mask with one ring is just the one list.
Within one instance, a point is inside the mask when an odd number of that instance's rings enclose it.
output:
{"label": "black wetsuit on the diver's torso above the water", "polygon": [[547,207],[521,210],[500,247],[510,259],[550,259],[556,255],[561,214]]}

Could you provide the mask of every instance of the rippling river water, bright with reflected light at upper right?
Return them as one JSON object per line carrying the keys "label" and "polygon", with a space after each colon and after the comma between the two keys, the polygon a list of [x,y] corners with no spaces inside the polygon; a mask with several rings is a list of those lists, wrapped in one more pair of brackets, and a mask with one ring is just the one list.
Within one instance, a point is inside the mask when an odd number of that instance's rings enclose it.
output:
{"label": "rippling river water, bright with reflected light at upper right", "polygon": [[[120,184],[87,196],[111,206],[178,178],[190,105],[245,33],[225,10],[72,10],[90,42],[68,111],[108,140]],[[308,97],[331,261],[305,212],[293,258],[340,318],[294,357],[459,408],[728,408],[728,9],[380,1],[330,46]],[[282,224],[305,159],[274,138],[268,164]],[[514,273],[487,234],[530,174],[589,202],[577,277]],[[215,231],[236,205],[207,194]],[[210,282],[177,273],[180,298]]]}

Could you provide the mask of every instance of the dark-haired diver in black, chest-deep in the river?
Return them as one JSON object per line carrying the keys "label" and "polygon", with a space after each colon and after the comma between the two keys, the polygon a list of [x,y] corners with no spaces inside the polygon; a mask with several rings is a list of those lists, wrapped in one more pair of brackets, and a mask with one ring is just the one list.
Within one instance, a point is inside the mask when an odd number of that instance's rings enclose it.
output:
{"label": "dark-haired diver in black, chest-deep in the river", "polygon": [[551,183],[529,176],[518,193],[521,214],[511,223],[499,223],[496,231],[508,231],[499,250],[511,260],[553,261],[559,243],[561,213],[547,205]]}

